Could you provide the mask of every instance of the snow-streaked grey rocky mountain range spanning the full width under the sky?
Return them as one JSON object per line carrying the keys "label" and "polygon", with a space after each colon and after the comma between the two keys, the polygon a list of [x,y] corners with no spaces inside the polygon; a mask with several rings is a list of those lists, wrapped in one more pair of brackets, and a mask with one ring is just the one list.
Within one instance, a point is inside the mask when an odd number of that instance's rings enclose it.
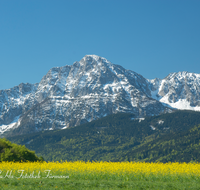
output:
{"label": "snow-streaked grey rocky mountain range spanning the full width under the sky", "polygon": [[[147,80],[107,59],[86,55],[71,66],[52,68],[39,84],[0,91],[0,133],[18,135],[63,129],[117,112],[135,117],[171,111],[185,100],[200,106],[200,76],[173,73]],[[163,104],[165,103],[165,104]]]}

